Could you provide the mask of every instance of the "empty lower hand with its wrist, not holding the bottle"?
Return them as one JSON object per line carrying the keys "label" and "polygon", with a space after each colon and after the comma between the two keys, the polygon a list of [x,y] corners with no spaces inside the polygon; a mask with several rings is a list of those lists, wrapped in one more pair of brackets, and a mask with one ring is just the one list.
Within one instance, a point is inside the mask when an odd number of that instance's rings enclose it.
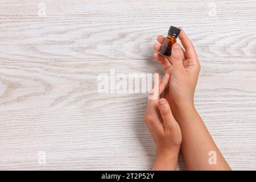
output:
{"label": "empty lower hand with its wrist, not holding the bottle", "polygon": [[[168,73],[166,73],[162,80],[160,77],[155,77],[153,90],[154,92],[158,92],[156,94],[157,96],[160,96],[166,86],[168,86],[169,81],[170,74]],[[159,97],[149,99],[146,113],[144,114],[144,121],[147,123],[156,143],[153,170],[176,170],[181,143],[181,131],[172,115],[167,100]]]}

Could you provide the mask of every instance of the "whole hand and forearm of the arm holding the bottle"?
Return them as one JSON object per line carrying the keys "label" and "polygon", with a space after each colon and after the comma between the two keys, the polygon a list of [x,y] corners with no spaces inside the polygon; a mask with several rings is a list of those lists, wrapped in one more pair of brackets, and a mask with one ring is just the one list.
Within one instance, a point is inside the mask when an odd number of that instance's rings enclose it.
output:
{"label": "whole hand and forearm of the arm holding the bottle", "polygon": [[[181,28],[180,28],[181,29]],[[158,36],[162,44],[166,38]],[[182,133],[181,150],[188,170],[230,170],[207,127],[193,104],[195,88],[200,72],[200,64],[193,44],[181,29],[180,44],[172,45],[171,57],[155,53],[155,59],[170,73],[170,82],[164,97],[171,106],[175,121]],[[155,44],[156,51],[162,46]],[[214,164],[209,162],[209,154],[214,154]]]}

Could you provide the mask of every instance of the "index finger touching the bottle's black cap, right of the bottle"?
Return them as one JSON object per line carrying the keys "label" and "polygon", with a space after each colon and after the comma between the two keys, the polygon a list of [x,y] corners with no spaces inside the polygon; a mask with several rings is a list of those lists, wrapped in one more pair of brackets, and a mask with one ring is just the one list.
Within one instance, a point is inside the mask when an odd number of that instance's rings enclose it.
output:
{"label": "index finger touching the bottle's black cap, right of the bottle", "polygon": [[180,35],[179,39],[182,46],[185,48],[185,55],[188,59],[197,58],[195,47],[193,46],[191,40],[189,40],[188,36],[185,34],[184,30],[179,27]]}

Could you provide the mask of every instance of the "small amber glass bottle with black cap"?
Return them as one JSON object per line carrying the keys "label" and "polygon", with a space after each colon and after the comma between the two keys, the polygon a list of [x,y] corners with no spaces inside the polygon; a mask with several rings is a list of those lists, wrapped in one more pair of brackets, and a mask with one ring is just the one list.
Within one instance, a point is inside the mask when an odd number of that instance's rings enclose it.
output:
{"label": "small amber glass bottle with black cap", "polygon": [[169,31],[168,31],[168,36],[164,40],[164,43],[162,45],[162,49],[159,52],[160,54],[164,56],[171,56],[171,51],[172,51],[172,45],[174,45],[177,40],[177,36],[180,34],[180,29],[174,26],[171,26]]}

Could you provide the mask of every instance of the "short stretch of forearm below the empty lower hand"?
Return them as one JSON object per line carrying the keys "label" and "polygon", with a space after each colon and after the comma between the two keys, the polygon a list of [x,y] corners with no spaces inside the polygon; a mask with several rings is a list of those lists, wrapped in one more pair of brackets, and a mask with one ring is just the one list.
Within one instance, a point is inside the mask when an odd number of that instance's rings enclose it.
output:
{"label": "short stretch of forearm below the empty lower hand", "polygon": [[155,163],[152,167],[154,171],[175,171],[177,169],[177,158],[179,150],[172,152],[156,151]]}

